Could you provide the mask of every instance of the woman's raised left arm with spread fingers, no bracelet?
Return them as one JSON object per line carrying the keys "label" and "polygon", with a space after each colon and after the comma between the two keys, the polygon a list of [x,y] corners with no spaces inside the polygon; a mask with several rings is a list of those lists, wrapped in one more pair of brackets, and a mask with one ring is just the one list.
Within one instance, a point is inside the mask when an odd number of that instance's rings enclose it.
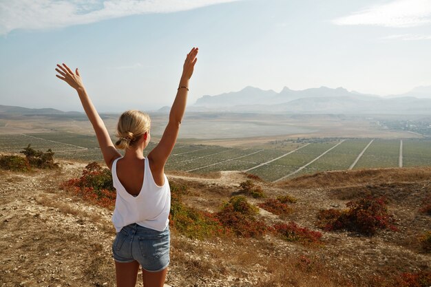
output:
{"label": "woman's raised left arm with spread fingers, no bracelet", "polygon": [[92,123],[93,129],[96,132],[98,145],[101,147],[103,159],[105,160],[107,167],[111,169],[112,162],[121,156],[121,154],[114,147],[114,144],[112,143],[109,133],[105,127],[105,123],[103,123],[103,120],[101,116],[98,115],[92,100],[87,95],[81,76],[79,76],[78,68],[76,68],[74,73],[69,67],[67,67],[67,65],[57,64],[57,68],[55,70],[59,73],[59,75],[56,75],[57,78],[65,81],[71,87],[76,89],[76,92],[78,92],[78,96],[83,105],[85,114],[87,114],[87,117],[90,120],[90,123]]}

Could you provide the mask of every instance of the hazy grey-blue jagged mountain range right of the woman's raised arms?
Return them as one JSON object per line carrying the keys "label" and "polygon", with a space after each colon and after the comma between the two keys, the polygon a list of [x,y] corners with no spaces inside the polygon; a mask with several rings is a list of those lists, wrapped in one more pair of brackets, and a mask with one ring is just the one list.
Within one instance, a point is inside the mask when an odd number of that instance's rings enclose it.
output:
{"label": "hazy grey-blue jagged mountain range right of the woman's raised arms", "polygon": [[[417,89],[422,94],[425,87]],[[202,96],[189,110],[235,112],[288,112],[333,114],[423,114],[431,113],[431,98],[400,96],[383,98],[343,87],[319,87],[295,91],[284,87],[280,93],[246,87],[239,92]]]}

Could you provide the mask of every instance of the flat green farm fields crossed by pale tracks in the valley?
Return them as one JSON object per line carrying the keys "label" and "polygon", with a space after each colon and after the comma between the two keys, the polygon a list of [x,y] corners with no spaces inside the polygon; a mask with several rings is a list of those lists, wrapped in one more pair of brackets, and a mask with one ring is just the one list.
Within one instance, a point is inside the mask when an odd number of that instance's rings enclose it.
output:
{"label": "flat green farm fields crossed by pale tracks in the valley", "polygon": [[[113,138],[114,140],[114,138]],[[52,149],[56,158],[81,162],[103,161],[94,136],[73,133],[3,134],[0,153]],[[151,142],[147,151],[156,145]],[[368,147],[368,149],[365,149]],[[399,167],[400,140],[379,138],[301,138],[266,144],[221,147],[178,142],[166,170],[190,173],[246,171],[268,181],[319,171]],[[359,157],[359,154],[364,154]],[[353,163],[357,163],[353,166]],[[403,167],[431,166],[430,139],[403,139]]]}

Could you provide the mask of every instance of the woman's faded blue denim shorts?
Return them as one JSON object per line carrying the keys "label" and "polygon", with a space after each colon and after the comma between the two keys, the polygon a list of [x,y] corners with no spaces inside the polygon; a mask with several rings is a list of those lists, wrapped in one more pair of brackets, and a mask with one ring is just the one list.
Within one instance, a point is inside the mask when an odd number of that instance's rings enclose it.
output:
{"label": "woman's faded blue denim shorts", "polygon": [[112,244],[114,260],[119,263],[137,261],[144,270],[161,271],[169,265],[169,226],[156,231],[136,223],[124,226]]}

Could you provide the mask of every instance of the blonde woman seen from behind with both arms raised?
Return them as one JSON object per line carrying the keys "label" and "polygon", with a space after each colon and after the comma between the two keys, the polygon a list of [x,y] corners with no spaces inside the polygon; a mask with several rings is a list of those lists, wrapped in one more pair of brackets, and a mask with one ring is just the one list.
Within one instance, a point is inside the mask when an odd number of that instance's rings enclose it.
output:
{"label": "blonde woman seen from behind with both arms raised", "polygon": [[[135,286],[139,265],[145,287],[163,286],[169,265],[170,190],[165,163],[171,154],[185,112],[189,79],[196,64],[198,48],[193,47],[183,65],[178,92],[171,107],[169,123],[160,142],[143,156],[150,140],[150,119],[140,111],[125,111],[117,127],[118,141],[112,143],[79,75],[67,65],[57,65],[58,78],[76,89],[93,125],[107,167],[112,171],[116,204],[112,222],[116,238],[112,245],[117,286]],[[116,150],[125,149],[125,156]]]}

